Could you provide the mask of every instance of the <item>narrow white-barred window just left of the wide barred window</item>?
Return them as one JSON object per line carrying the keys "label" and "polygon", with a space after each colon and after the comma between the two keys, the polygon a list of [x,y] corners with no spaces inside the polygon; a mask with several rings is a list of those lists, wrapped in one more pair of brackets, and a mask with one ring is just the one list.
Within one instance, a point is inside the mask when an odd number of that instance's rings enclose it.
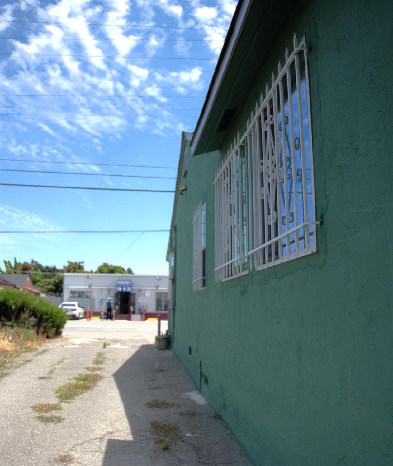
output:
{"label": "narrow white-barred window just left of the wide barred window", "polygon": [[193,226],[193,273],[194,291],[206,287],[206,204],[202,202],[194,212]]}

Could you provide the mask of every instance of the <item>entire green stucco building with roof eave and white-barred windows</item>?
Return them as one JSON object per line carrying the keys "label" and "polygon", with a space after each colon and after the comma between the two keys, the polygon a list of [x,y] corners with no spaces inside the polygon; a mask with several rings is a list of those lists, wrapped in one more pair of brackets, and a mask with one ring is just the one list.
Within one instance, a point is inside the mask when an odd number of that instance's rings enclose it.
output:
{"label": "entire green stucco building with roof eave and white-barred windows", "polygon": [[182,135],[172,348],[255,465],[393,464],[392,18],[240,0]]}

